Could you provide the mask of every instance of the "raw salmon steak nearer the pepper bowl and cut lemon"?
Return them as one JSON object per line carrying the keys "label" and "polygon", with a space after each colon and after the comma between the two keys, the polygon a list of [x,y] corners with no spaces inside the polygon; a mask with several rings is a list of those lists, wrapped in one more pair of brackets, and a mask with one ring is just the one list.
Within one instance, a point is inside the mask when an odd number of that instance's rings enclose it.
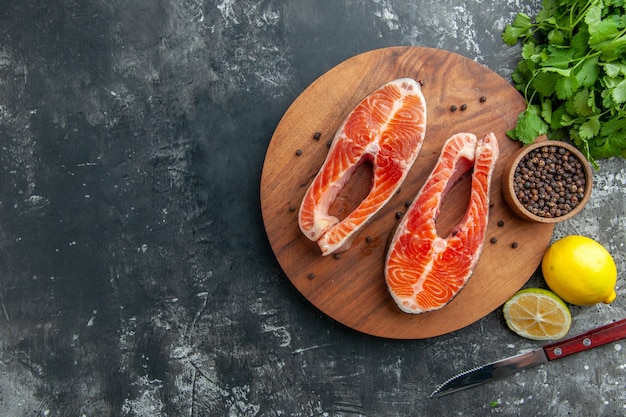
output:
{"label": "raw salmon steak nearer the pepper bowl and cut lemon", "polygon": [[[481,140],[458,133],[441,156],[398,225],[385,261],[387,288],[407,313],[444,307],[467,283],[483,248],[489,189],[498,158],[493,133]],[[437,235],[441,203],[454,182],[472,170],[470,201],[463,219],[446,238]]]}

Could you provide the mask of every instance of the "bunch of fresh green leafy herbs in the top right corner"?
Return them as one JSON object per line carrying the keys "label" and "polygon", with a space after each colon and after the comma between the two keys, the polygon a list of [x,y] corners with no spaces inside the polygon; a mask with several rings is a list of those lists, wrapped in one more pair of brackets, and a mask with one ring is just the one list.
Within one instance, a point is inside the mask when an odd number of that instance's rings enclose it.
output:
{"label": "bunch of fresh green leafy herbs in the top right corner", "polygon": [[502,39],[522,44],[512,77],[527,107],[511,138],[570,140],[596,168],[626,158],[626,0],[543,0]]}

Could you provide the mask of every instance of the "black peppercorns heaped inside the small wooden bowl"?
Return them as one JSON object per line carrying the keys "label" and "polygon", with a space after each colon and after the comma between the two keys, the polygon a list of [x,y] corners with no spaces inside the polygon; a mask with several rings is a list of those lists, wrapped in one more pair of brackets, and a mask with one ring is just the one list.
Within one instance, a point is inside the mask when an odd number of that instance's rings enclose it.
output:
{"label": "black peppercorns heaped inside the small wooden bowl", "polygon": [[539,217],[560,217],[585,196],[583,163],[569,150],[546,145],[530,151],[515,168],[517,200]]}

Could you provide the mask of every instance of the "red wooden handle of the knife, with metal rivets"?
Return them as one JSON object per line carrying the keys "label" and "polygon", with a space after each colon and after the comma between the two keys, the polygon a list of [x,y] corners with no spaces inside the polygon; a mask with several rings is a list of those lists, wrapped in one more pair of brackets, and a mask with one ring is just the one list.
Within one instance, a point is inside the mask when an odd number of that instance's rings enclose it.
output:
{"label": "red wooden handle of the knife, with metal rivets", "polygon": [[597,327],[569,339],[545,345],[543,350],[548,360],[552,361],[621,339],[626,339],[626,319]]}

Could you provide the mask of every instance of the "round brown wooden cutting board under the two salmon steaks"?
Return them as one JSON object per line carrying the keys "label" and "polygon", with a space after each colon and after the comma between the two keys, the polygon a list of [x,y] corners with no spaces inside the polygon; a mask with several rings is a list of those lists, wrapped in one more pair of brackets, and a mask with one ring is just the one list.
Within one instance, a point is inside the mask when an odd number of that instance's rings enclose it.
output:
{"label": "round brown wooden cutting board under the two salmon steaks", "polygon": [[[356,104],[384,83],[410,77],[422,84],[428,120],[424,145],[400,191],[340,257],[323,257],[298,227],[298,209],[320,169],[331,140]],[[482,99],[481,99],[482,97]],[[452,111],[451,107],[457,110]],[[370,335],[417,339],[445,334],[484,317],[519,290],[537,269],[553,225],[529,223],[506,206],[501,192],[506,160],[520,147],[506,131],[525,101],[504,79],[460,55],[430,48],[394,47],[357,55],[313,82],[287,110],[267,149],[261,177],[261,209],[270,245],[293,285],[333,319]],[[317,138],[315,133],[321,133]],[[485,246],[469,282],[444,308],[418,315],[402,312],[387,291],[383,267],[387,243],[457,132],[494,132],[500,145],[492,179]],[[371,167],[354,174],[331,207],[339,218],[367,194]],[[438,233],[447,235],[469,201],[470,177],[444,199]],[[492,243],[491,239],[497,242]],[[515,245],[513,244],[515,242]]]}

